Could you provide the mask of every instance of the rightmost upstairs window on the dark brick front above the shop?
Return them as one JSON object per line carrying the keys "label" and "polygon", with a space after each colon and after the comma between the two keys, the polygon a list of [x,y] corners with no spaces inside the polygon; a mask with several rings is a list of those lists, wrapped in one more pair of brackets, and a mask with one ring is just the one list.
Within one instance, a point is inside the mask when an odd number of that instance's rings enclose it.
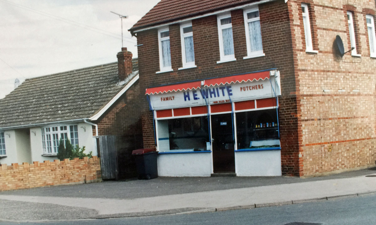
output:
{"label": "rightmost upstairs window on the dark brick front above the shop", "polygon": [[244,58],[265,55],[262,51],[260,15],[258,8],[244,11],[244,24],[246,26],[248,54],[247,57]]}

